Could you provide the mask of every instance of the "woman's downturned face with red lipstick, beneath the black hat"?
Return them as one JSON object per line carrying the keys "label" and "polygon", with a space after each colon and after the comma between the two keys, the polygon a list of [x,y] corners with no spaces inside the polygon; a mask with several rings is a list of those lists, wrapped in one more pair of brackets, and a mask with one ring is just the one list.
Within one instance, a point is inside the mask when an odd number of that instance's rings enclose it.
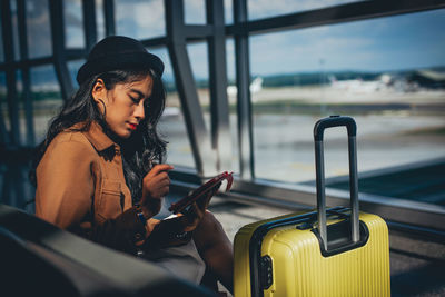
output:
{"label": "woman's downturned face with red lipstick, beneath the black hat", "polygon": [[151,77],[147,75],[132,82],[117,83],[115,88],[107,90],[103,81],[97,80],[92,97],[100,111],[105,113],[108,127],[118,137],[129,138],[144,120],[144,103],[151,96],[152,83]]}

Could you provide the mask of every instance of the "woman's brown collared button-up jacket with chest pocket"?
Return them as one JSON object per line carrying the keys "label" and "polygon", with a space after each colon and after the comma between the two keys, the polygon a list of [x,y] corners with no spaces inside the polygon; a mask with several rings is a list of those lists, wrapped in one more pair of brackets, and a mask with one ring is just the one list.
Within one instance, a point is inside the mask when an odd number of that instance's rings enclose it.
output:
{"label": "woman's brown collared button-up jacket with chest pocket", "polygon": [[[75,126],[79,127],[79,126]],[[120,148],[93,122],[60,132],[37,168],[36,215],[99,244],[135,251],[146,236],[126,185]]]}

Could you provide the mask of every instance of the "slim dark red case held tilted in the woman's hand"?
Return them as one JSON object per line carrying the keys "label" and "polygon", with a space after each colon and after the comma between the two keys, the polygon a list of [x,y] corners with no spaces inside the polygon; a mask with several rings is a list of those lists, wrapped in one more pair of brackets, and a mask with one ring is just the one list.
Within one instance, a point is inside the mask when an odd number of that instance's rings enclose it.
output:
{"label": "slim dark red case held tilted in the woman's hand", "polygon": [[191,194],[187,195],[179,201],[171,204],[168,210],[172,211],[174,214],[182,211],[198,199],[206,197],[209,192],[211,191],[216,192],[219,189],[222,180],[227,180],[226,191],[230,190],[231,184],[234,181],[233,174],[234,172],[229,174],[227,171],[224,171],[222,174],[214,177],[212,179],[210,179],[209,181],[207,181],[206,184],[204,184],[202,186],[200,186],[199,188],[197,188],[196,190],[194,190]]}

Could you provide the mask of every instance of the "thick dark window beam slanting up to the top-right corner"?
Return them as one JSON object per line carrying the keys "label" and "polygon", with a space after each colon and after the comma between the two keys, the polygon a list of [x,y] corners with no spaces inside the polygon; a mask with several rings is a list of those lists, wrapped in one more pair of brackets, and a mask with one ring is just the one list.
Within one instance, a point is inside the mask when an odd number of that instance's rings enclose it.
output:
{"label": "thick dark window beam slanting up to the top-right corner", "polygon": [[[235,6],[235,4],[234,4]],[[332,8],[296,12],[227,27],[227,34],[258,34],[315,26],[342,23],[370,18],[444,8],[444,0],[359,1]]]}

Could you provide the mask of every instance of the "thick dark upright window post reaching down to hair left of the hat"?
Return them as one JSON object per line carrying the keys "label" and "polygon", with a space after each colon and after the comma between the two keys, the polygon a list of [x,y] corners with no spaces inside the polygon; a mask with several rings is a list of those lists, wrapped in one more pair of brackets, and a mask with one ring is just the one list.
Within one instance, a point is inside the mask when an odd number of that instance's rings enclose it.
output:
{"label": "thick dark upright window post reaching down to hair left of the hat", "polygon": [[65,52],[65,23],[63,1],[49,0],[49,16],[51,20],[52,55],[55,57],[56,75],[60,83],[63,100],[67,100],[73,92],[70,73],[67,67]]}

